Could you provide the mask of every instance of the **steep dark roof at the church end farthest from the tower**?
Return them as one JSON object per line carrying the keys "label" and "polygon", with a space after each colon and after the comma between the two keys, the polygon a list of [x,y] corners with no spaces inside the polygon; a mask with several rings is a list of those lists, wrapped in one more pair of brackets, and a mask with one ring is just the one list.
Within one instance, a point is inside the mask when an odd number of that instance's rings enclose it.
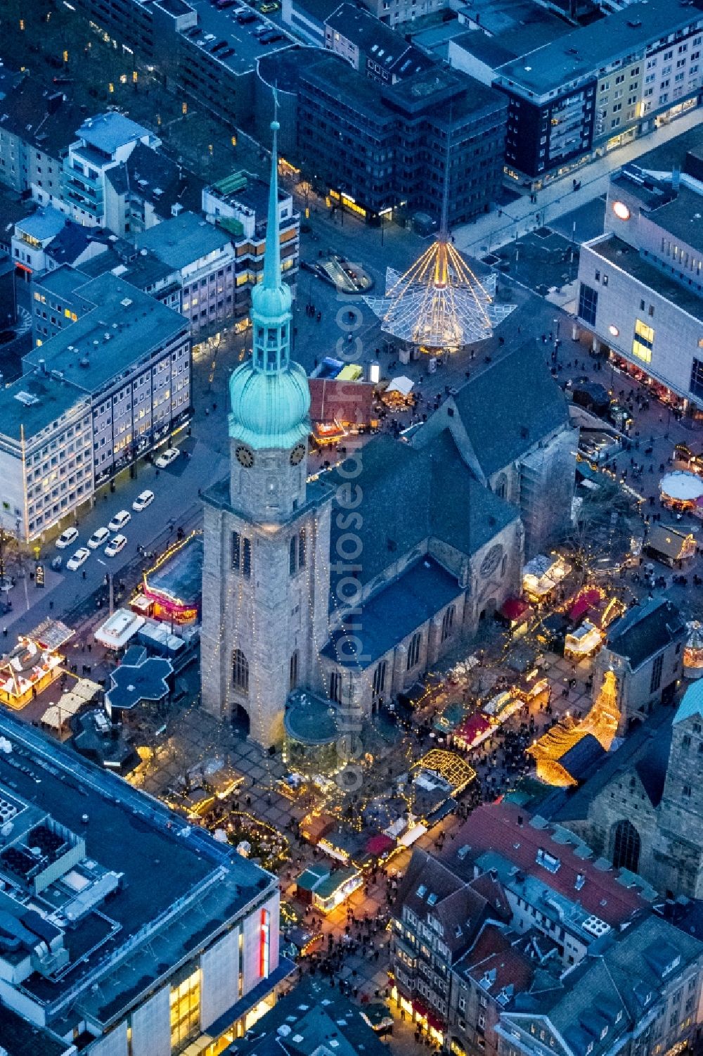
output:
{"label": "steep dark roof at the church end farthest from the tower", "polygon": [[533,345],[522,345],[476,374],[454,402],[487,476],[569,420],[564,393]]}

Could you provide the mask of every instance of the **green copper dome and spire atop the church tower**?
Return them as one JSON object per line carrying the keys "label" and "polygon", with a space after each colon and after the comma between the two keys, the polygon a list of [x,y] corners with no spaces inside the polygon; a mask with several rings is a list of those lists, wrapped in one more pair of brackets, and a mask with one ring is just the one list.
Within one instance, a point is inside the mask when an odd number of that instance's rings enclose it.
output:
{"label": "green copper dome and spire atop the church tower", "polygon": [[290,287],[281,278],[278,100],[271,121],[271,182],[262,281],[251,293],[251,359],[229,381],[229,435],[256,450],[287,449],[306,439],[310,393],[302,366],[290,361]]}

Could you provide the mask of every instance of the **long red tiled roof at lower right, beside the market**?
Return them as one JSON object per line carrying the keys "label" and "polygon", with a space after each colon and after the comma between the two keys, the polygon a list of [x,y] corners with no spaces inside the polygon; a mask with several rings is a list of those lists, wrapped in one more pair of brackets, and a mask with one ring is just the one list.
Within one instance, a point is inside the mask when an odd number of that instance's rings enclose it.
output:
{"label": "long red tiled roof at lower right, beside the market", "polygon": [[[518,824],[518,817],[521,824]],[[468,850],[464,850],[468,848]],[[536,864],[537,851],[559,860],[552,872]],[[473,871],[473,862],[486,851],[494,851],[512,862],[525,873],[537,878],[547,887],[578,902],[587,912],[618,927],[648,903],[634,888],[624,887],[612,870],[596,869],[592,860],[577,857],[574,845],[552,840],[551,828],[537,829],[530,825],[530,815],[513,804],[500,803],[479,807],[461,826],[456,837],[440,854],[442,861],[460,875]],[[576,888],[578,874],[583,886]]]}

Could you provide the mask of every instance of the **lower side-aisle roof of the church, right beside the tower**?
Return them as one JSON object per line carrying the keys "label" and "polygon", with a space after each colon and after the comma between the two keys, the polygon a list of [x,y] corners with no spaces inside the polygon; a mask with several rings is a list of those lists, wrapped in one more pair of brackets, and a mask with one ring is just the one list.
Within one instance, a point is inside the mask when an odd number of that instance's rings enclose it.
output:
{"label": "lower side-aisle roof of the church, right beside the tower", "polygon": [[[454,576],[432,558],[423,558],[375,593],[361,616],[354,618],[349,639],[343,630],[336,631],[322,655],[345,667],[367,667],[461,592]],[[353,650],[352,645],[359,643]]]}

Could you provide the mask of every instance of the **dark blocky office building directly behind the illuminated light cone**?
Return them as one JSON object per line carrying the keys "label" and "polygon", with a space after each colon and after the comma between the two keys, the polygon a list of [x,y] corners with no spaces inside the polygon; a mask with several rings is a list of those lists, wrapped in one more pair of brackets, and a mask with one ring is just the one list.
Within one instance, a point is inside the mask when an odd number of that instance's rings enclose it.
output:
{"label": "dark blocky office building directly behind the illuminated light cone", "polygon": [[[440,65],[395,84],[377,83],[372,73],[375,80],[337,56],[300,71],[303,174],[366,219],[402,205],[438,223],[449,152],[450,224],[487,211],[501,181],[507,110],[499,93]],[[330,142],[339,144],[334,151]]]}

